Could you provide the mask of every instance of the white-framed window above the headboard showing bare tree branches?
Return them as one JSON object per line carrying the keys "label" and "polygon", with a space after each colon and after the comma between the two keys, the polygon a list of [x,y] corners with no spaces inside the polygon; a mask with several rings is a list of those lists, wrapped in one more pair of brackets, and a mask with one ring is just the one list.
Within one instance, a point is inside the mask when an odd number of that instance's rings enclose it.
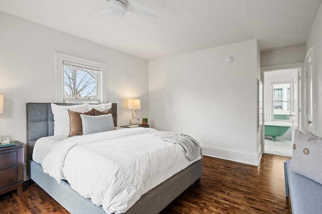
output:
{"label": "white-framed window above the headboard showing bare tree branches", "polygon": [[104,63],[56,53],[56,65],[58,102],[106,102]]}

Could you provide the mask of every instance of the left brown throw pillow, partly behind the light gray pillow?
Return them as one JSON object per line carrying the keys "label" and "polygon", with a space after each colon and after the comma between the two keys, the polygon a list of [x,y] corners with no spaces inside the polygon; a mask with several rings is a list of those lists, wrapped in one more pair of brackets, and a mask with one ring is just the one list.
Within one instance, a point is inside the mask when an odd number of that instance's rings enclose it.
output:
{"label": "left brown throw pillow, partly behind the light gray pillow", "polygon": [[81,115],[90,115],[93,116],[94,111],[91,109],[87,112],[73,112],[68,109],[69,114],[69,135],[68,137],[72,137],[75,135],[83,135],[83,126],[82,126],[82,119]]}

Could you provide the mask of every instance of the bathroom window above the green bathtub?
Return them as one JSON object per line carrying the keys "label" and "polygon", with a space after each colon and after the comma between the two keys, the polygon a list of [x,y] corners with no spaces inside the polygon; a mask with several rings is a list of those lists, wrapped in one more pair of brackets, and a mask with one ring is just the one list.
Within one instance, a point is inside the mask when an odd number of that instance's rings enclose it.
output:
{"label": "bathroom window above the green bathtub", "polygon": [[272,82],[274,121],[290,121],[291,82]]}

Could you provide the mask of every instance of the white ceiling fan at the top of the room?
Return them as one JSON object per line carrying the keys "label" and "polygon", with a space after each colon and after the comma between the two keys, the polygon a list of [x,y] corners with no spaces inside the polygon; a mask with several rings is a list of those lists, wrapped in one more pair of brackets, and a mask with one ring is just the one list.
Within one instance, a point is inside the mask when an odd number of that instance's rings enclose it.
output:
{"label": "white ceiling fan at the top of the room", "polygon": [[91,13],[109,13],[113,16],[122,17],[125,16],[127,12],[152,17],[155,19],[159,18],[159,13],[157,13],[156,11],[153,11],[152,9],[149,9],[143,5],[127,0],[107,0],[104,7]]}

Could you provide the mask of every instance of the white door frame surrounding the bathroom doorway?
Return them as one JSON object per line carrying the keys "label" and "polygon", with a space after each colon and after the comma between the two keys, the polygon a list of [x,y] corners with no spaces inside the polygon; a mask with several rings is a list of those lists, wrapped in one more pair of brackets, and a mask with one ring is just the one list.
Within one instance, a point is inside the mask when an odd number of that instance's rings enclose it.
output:
{"label": "white door frame surrounding the bathroom doorway", "polygon": [[[301,111],[303,109],[303,80],[302,76],[304,73],[304,62],[299,62],[299,63],[291,63],[291,64],[284,64],[284,65],[273,65],[273,66],[265,66],[261,67],[261,80],[263,84],[265,85],[265,80],[264,80],[264,73],[269,72],[269,71],[276,71],[276,70],[288,70],[288,69],[300,69],[300,72],[298,74],[298,126],[299,129],[301,128],[301,121],[303,120],[303,114],[301,114]],[[265,88],[265,87],[264,87]],[[265,102],[265,101],[264,101]],[[263,108],[265,108],[265,103],[263,104]],[[263,112],[265,112],[263,110]],[[264,124],[265,125],[265,122]],[[264,154],[265,152],[265,126],[263,126],[264,129],[262,129],[261,133],[261,145],[262,145],[262,153]],[[292,133],[294,135],[294,133]],[[293,136],[292,136],[293,139]]]}

